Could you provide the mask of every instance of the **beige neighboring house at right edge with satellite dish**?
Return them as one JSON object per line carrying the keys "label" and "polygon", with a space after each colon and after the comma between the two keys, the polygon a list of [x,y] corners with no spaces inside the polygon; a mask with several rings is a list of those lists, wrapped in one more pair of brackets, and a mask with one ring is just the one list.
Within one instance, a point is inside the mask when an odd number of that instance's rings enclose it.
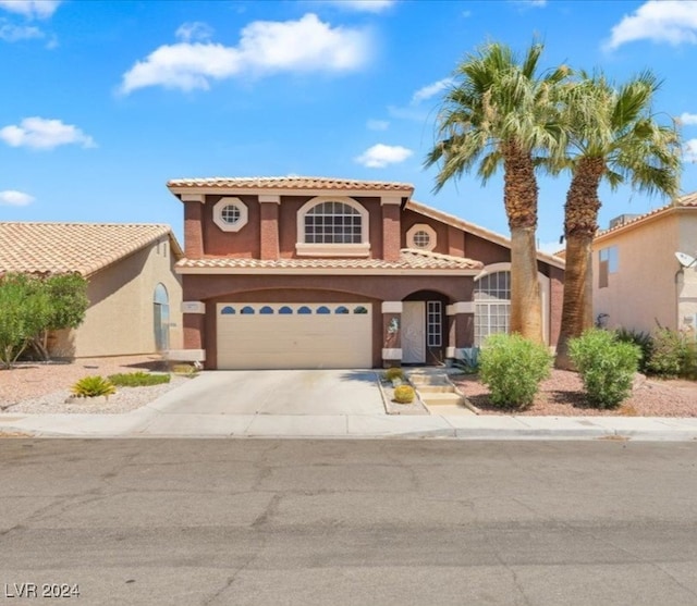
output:
{"label": "beige neighboring house at right edge with satellite dish", "polygon": [[[592,244],[596,321],[609,329],[695,334],[697,193],[641,215],[622,215]],[[681,263],[676,252],[686,253]]]}

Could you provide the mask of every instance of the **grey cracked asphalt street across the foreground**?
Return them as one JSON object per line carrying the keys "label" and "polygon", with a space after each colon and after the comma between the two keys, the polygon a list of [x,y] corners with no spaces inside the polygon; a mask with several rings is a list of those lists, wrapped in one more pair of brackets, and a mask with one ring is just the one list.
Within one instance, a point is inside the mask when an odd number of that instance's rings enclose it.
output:
{"label": "grey cracked asphalt street across the foreground", "polygon": [[697,443],[2,440],[0,487],[0,604],[697,605]]}

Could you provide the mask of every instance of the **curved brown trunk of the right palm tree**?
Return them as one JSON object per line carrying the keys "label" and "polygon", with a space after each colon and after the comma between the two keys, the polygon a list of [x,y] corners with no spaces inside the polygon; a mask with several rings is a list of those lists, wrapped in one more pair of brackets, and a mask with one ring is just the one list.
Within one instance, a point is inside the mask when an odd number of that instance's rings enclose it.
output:
{"label": "curved brown trunk of the right palm tree", "polygon": [[606,170],[600,158],[583,158],[572,177],[564,207],[566,269],[562,325],[557,344],[554,366],[573,367],[568,357],[568,339],[580,336],[592,326],[592,238],[598,230],[598,186]]}

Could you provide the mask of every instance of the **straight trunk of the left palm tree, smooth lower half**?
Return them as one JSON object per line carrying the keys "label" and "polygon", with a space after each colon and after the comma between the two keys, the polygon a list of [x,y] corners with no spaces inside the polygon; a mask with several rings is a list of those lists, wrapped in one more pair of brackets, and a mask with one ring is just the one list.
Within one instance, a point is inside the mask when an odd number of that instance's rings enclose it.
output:
{"label": "straight trunk of the left palm tree, smooth lower half", "polygon": [[531,153],[515,141],[503,147],[503,201],[511,230],[512,333],[542,343],[542,305],[537,280],[537,180]]}

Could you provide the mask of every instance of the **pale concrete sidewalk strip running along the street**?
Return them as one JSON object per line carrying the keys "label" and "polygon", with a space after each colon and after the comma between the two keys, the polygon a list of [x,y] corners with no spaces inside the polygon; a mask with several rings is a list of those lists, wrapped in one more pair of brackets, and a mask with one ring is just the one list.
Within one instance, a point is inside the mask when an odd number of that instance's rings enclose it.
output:
{"label": "pale concrete sidewalk strip running along the street", "polygon": [[0,437],[697,441],[697,418],[386,415],[0,415]]}

